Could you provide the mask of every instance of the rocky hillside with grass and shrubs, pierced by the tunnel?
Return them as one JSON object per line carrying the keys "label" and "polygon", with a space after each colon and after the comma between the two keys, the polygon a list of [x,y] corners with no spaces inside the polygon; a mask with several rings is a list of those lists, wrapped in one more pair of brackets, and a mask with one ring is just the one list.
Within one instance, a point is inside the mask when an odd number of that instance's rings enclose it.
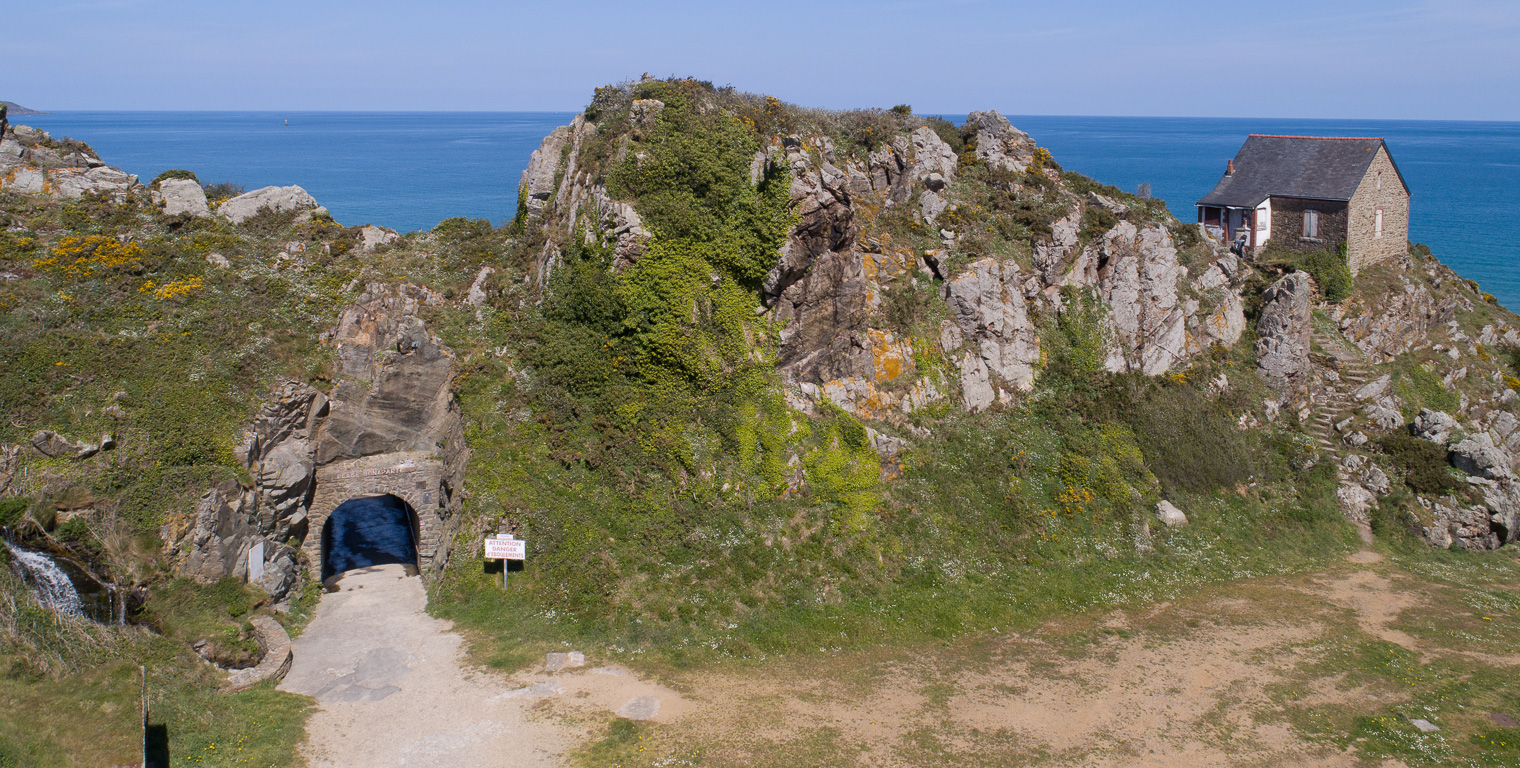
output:
{"label": "rocky hillside with grass and shrubs, pierced by the tunnel", "polygon": [[[298,628],[324,493],[383,456],[429,467],[430,610],[506,669],[1031,630],[1359,532],[1417,560],[1520,532],[1520,318],[1423,246],[1354,277],[1240,259],[997,113],[611,85],[511,225],[406,236],[15,126],[0,281],[0,525],[134,624],[27,619],[0,569],[8,684],[128,695],[146,659],[166,716],[216,712],[196,744],[281,722],[274,763],[302,700],[217,697],[192,648],[237,666],[249,616]],[[502,590],[479,552],[506,529],[529,557]],[[120,751],[111,718],[73,738]]]}

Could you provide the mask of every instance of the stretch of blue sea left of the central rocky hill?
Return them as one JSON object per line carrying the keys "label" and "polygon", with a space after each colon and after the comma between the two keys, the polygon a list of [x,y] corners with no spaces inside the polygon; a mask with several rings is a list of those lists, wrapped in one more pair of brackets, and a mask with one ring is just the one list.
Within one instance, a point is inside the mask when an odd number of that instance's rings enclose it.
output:
{"label": "stretch of blue sea left of the central rocky hill", "polygon": [[573,116],[58,113],[12,122],[88,141],[144,182],[178,167],[204,184],[299,184],[342,224],[412,231],[451,216],[511,219],[527,157]]}

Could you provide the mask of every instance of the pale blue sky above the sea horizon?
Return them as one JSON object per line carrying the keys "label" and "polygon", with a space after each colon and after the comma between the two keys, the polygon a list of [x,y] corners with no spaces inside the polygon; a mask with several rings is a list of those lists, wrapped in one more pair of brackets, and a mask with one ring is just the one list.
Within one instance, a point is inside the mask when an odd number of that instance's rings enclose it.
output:
{"label": "pale blue sky above the sea horizon", "polygon": [[41,109],[579,109],[690,75],[920,113],[1520,120],[1515,0],[6,0]]}

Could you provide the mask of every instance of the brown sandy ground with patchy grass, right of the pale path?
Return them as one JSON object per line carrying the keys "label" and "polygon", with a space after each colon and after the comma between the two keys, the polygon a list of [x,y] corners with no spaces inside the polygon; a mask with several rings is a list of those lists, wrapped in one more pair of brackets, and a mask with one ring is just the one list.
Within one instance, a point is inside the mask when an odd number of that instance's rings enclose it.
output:
{"label": "brown sandy ground with patchy grass, right of the pale path", "polygon": [[[701,713],[676,732],[707,747],[704,765],[786,765],[774,756],[780,750],[862,766],[1365,766],[1277,716],[1281,690],[1307,683],[1297,669],[1312,648],[1348,619],[1421,651],[1391,627],[1421,598],[1370,570],[1380,555],[1347,560],[1348,569],[1245,595],[1058,620],[1023,636],[841,654],[765,674],[676,675],[672,683]],[[1376,698],[1319,683],[1286,700]]]}

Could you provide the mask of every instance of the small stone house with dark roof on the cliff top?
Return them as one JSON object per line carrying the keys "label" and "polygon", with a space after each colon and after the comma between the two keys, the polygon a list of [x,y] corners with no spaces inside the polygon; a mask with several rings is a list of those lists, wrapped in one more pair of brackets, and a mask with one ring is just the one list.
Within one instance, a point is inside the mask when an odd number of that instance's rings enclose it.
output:
{"label": "small stone house with dark roof on the cliff top", "polygon": [[1246,137],[1198,224],[1242,254],[1347,245],[1351,274],[1404,252],[1409,186],[1382,138]]}

